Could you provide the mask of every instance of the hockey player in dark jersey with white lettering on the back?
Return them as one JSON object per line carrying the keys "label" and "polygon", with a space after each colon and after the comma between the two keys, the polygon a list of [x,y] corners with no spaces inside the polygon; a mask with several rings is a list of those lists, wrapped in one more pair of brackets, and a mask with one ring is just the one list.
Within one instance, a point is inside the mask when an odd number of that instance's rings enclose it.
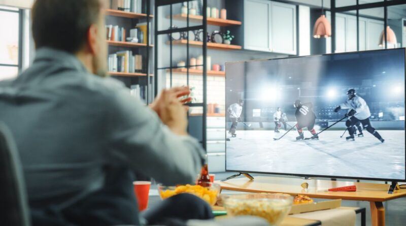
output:
{"label": "hockey player in dark jersey with white lettering on the back", "polygon": [[308,131],[312,133],[312,139],[319,139],[319,136],[314,129],[314,124],[316,122],[316,115],[313,112],[313,104],[312,103],[301,103],[300,100],[296,100],[294,105],[296,108],[295,116],[296,116],[296,128],[299,136],[296,137],[296,140],[303,140],[303,128],[307,127]]}

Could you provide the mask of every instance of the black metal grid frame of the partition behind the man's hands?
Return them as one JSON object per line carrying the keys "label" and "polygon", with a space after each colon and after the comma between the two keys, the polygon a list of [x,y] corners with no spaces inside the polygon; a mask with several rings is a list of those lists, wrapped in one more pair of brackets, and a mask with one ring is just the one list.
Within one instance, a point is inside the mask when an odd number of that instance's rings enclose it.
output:
{"label": "black metal grid frame of the partition behind the man's hands", "polygon": [[[203,13],[203,20],[202,20],[202,25],[198,26],[189,26],[189,1],[190,0],[175,0],[175,1],[168,1],[168,0],[155,0],[155,14],[158,14],[158,7],[162,6],[170,6],[170,29],[166,30],[158,30],[158,15],[155,16],[155,34],[154,34],[154,40],[155,40],[155,54],[154,54],[154,73],[156,75],[155,78],[155,96],[158,94],[158,70],[162,69],[169,69],[170,70],[170,84],[172,87],[172,74],[173,74],[173,69],[178,69],[178,68],[186,68],[186,84],[189,86],[189,39],[186,39],[186,65],[183,67],[177,67],[172,65],[172,55],[173,55],[173,40],[170,39],[170,67],[164,67],[164,68],[158,68],[158,35],[164,35],[164,34],[170,34],[172,36],[173,33],[177,32],[187,32],[191,30],[198,30],[202,29],[203,34],[207,34],[207,0],[203,0],[202,4],[202,13]],[[179,4],[187,2],[187,18],[186,18],[186,27],[182,28],[172,28],[173,25],[173,5],[174,4]],[[206,36],[206,35],[205,35]],[[202,46],[202,55],[203,55],[203,102],[202,103],[189,103],[187,104],[189,107],[202,107],[203,108],[203,114],[202,114],[202,146],[206,150],[206,141],[207,141],[207,135],[206,135],[206,127],[207,127],[207,39],[204,38],[203,40],[203,46]]]}

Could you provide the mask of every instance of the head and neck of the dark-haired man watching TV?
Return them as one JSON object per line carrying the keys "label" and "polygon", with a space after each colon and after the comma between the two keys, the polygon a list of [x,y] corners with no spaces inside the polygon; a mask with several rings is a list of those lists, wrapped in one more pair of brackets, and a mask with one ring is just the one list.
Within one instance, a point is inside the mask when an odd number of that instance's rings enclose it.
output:
{"label": "head and neck of the dark-haired man watching TV", "polygon": [[36,49],[75,54],[93,74],[107,74],[105,0],[37,0],[32,7]]}

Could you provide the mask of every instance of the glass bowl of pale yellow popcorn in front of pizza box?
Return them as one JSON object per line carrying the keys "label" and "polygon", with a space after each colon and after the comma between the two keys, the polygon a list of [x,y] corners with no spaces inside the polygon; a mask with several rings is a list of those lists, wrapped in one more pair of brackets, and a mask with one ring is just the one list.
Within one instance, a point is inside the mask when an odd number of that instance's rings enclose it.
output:
{"label": "glass bowl of pale yellow popcorn in front of pizza box", "polygon": [[292,207],[293,197],[287,194],[254,193],[226,196],[223,205],[227,215],[252,215],[265,218],[270,225],[279,225]]}

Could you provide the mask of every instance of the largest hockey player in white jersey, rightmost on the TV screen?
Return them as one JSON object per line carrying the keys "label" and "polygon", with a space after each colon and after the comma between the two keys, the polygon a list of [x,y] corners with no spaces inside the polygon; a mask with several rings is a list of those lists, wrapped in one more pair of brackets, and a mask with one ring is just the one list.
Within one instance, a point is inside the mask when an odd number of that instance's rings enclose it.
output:
{"label": "largest hockey player in white jersey, rightmost on the TV screen", "polygon": [[378,131],[375,130],[369,121],[371,112],[369,111],[369,107],[365,100],[362,99],[361,96],[357,95],[355,89],[349,89],[347,91],[347,95],[347,101],[334,109],[334,112],[339,112],[341,109],[349,109],[349,112],[346,114],[346,116],[349,117],[346,121],[346,126],[350,136],[346,139],[355,141],[354,134],[356,129],[354,125],[356,125],[357,122],[361,122],[364,130],[368,131],[370,134],[374,135],[378,140],[384,143],[385,140],[381,137]]}

